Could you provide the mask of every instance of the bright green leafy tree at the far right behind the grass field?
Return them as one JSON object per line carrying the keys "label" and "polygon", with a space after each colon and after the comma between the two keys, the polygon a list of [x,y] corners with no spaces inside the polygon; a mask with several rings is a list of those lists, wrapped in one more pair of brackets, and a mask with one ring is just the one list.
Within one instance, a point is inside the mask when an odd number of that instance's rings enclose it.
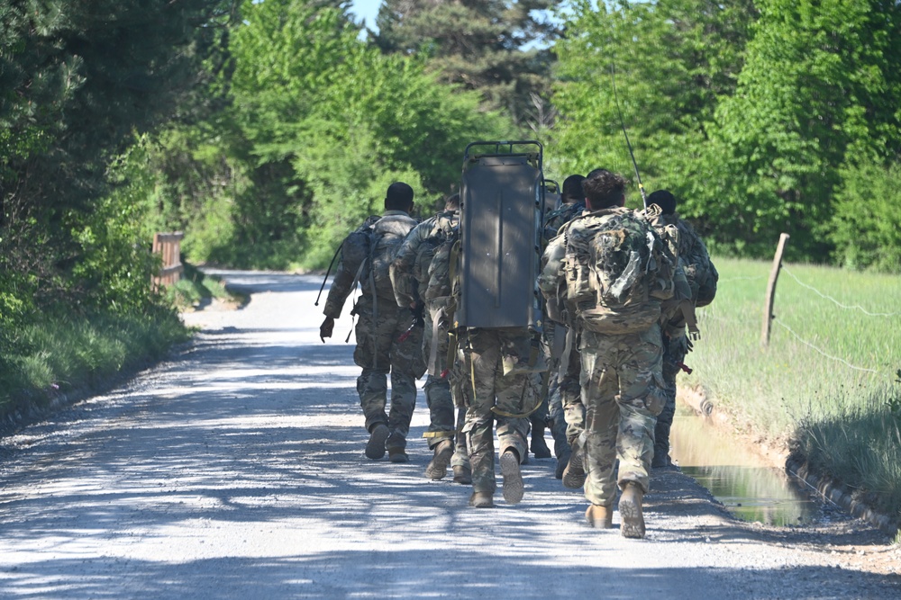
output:
{"label": "bright green leafy tree at the far right behind the grass field", "polygon": [[738,87],[717,108],[720,217],[751,226],[760,254],[825,261],[842,172],[901,146],[901,7],[894,0],[759,0]]}

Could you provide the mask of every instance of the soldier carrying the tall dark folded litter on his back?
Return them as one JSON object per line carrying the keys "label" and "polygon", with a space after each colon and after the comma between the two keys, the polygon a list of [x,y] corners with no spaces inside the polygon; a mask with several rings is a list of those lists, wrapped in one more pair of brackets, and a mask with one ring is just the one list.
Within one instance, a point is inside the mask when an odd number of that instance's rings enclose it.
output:
{"label": "soldier carrying the tall dark folded litter on his back", "polygon": [[529,415],[541,403],[544,358],[536,287],[541,258],[542,145],[475,142],[463,161],[458,299],[452,334],[469,396],[463,433],[477,508],[494,506],[495,433],[508,504],[523,499]]}

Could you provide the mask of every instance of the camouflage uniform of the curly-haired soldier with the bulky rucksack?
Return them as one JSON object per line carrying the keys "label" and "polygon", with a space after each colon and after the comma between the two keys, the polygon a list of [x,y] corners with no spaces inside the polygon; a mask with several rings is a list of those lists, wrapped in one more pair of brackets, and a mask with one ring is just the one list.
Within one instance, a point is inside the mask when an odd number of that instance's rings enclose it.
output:
{"label": "camouflage uniform of the curly-haired soldier with the bulky rucksack", "polygon": [[[556,237],[544,255],[545,266],[539,284],[550,301],[560,294],[567,295],[567,306],[576,312],[580,325],[581,354],[580,384],[585,405],[585,497],[593,505],[611,506],[614,501],[614,464],[619,459],[617,481],[620,488],[636,483],[648,491],[648,470],[653,452],[655,417],[663,407],[660,342],[660,302],[649,295],[637,296],[633,311],[605,306],[601,294],[592,288],[590,300],[573,300],[568,294],[568,278],[564,268],[568,252],[568,238],[591,239],[593,231],[609,227],[611,219],[629,218],[626,209],[598,210],[569,224],[565,235]],[[650,232],[642,219],[630,221],[633,227]],[[637,223],[637,225],[635,224]],[[619,227],[619,226],[617,226]],[[626,237],[626,239],[630,239]],[[643,239],[643,236],[642,236]],[[658,239],[655,237],[655,239]],[[659,240],[658,240],[659,241]],[[585,251],[578,250],[579,264],[588,264]],[[658,296],[671,294],[671,273],[658,264],[660,272],[647,275],[657,286]],[[567,266],[566,268],[570,268]],[[588,278],[586,281],[595,281]],[[601,282],[609,290],[609,282]],[[658,285],[659,284],[659,285]],[[630,292],[632,294],[639,292]],[[648,294],[648,291],[644,292]],[[587,297],[586,297],[587,298]],[[574,306],[575,303],[575,306]],[[592,318],[605,317],[605,323],[616,327],[610,333],[598,333]],[[618,327],[618,328],[617,328]],[[619,331],[619,333],[614,333]]]}

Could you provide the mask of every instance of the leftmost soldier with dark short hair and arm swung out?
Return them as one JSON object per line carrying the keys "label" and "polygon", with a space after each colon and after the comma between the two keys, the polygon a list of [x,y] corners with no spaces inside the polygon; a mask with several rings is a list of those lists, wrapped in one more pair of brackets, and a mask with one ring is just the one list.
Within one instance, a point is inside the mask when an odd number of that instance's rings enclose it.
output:
{"label": "leftmost soldier with dark short hair and arm swung out", "polygon": [[[407,462],[406,435],[416,406],[416,380],[425,371],[422,357],[423,327],[411,327],[410,309],[397,306],[389,267],[406,235],[415,227],[413,188],[397,182],[388,186],[385,212],[372,216],[341,244],[341,263],[325,303],[320,338],[332,336],[334,319],[348,295],[360,282],[361,294],[350,314],[359,316],[355,334],[354,363],[362,369],[357,378],[359,403],[366,417],[369,443],[366,456],[385,456]],[[391,410],[387,404],[387,374],[391,373]]]}

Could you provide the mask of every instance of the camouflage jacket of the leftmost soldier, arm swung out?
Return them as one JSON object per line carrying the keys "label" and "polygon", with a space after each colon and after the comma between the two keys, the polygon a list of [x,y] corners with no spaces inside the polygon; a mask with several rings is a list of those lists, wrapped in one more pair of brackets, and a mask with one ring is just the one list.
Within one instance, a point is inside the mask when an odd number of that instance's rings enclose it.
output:
{"label": "camouflage jacket of the leftmost soldier, arm swung out", "polygon": [[[323,314],[326,317],[339,318],[344,302],[362,277],[361,268],[363,262],[369,256],[369,232],[373,226],[382,219],[396,221],[392,225],[404,230],[405,233],[414,228],[416,221],[403,210],[386,210],[381,217],[372,215],[367,217],[359,228],[354,229],[348,237],[341,242],[341,261],[335,272],[332,286],[329,288],[329,296],[325,300]],[[373,300],[369,285],[360,285],[361,295],[370,302]]]}

